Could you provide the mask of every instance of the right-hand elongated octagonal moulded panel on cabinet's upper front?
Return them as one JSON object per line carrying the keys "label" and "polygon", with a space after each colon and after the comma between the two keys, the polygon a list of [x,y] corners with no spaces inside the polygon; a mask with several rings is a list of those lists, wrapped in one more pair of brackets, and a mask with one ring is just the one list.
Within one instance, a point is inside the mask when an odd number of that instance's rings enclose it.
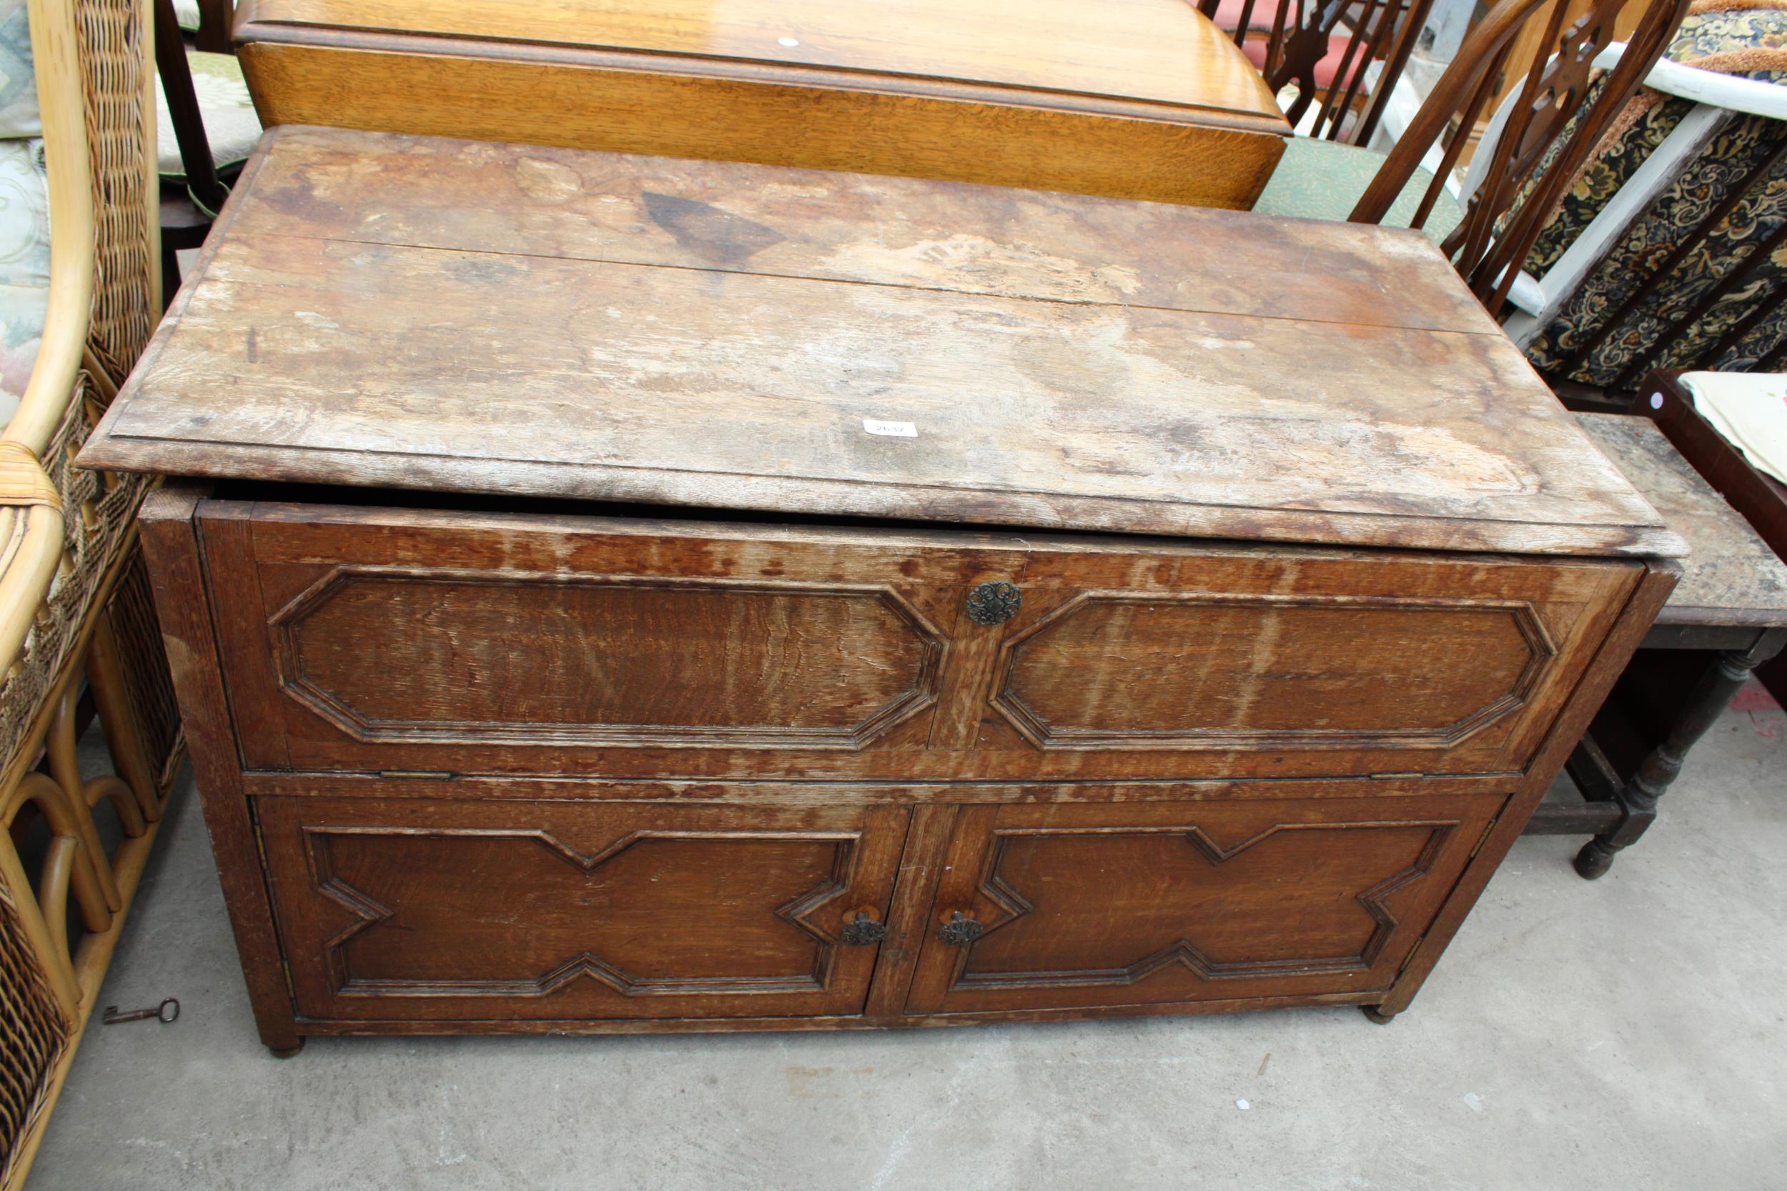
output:
{"label": "right-hand elongated octagonal moulded panel on cabinet's upper front", "polygon": [[1038,748],[1451,748],[1555,648],[1524,602],[1086,593],[1006,641]]}

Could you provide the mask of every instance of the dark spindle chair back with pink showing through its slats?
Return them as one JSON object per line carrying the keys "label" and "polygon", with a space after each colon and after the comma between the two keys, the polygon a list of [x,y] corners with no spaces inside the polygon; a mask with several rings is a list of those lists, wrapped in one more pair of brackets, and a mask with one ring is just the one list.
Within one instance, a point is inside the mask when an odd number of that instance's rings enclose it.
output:
{"label": "dark spindle chair back with pink showing through its slats", "polygon": [[[1221,7],[1222,0],[1197,4],[1210,20],[1228,23]],[[1431,7],[1433,0],[1242,0],[1233,37],[1242,48],[1263,41],[1260,73],[1274,95],[1297,89],[1285,111],[1292,125],[1313,107],[1313,123],[1301,129],[1306,136],[1363,145],[1383,120]],[[1322,86],[1317,66],[1331,54],[1337,32],[1346,37],[1346,48],[1335,62],[1333,80]],[[1371,62],[1383,66],[1367,91]],[[1349,121],[1347,116],[1356,118]]]}

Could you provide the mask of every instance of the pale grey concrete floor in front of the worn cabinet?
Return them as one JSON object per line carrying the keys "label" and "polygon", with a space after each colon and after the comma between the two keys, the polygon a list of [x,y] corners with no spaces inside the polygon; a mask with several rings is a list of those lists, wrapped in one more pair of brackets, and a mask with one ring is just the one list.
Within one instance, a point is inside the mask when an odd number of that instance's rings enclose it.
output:
{"label": "pale grey concrete floor in front of the worn cabinet", "polygon": [[1787,1187],[1787,716],[1610,877],[1523,839],[1414,1009],[259,1046],[191,789],[30,1191]]}

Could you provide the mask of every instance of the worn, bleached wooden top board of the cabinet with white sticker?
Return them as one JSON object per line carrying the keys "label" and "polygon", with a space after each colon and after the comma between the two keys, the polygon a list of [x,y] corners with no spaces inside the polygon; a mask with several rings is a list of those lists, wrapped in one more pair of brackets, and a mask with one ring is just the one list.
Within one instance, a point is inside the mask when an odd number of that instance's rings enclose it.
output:
{"label": "worn, bleached wooden top board of the cabinet with white sticker", "polygon": [[1682,550],[1419,232],[318,129],[263,143],[80,461]]}

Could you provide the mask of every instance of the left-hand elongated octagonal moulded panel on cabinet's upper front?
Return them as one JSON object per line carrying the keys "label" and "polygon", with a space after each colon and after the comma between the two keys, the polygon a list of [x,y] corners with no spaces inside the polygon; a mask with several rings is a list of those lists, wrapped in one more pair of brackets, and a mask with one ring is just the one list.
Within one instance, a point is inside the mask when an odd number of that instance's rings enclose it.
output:
{"label": "left-hand elongated octagonal moulded panel on cabinet's upper front", "polygon": [[354,566],[272,629],[286,696],[400,743],[861,748],[945,650],[885,587]]}

